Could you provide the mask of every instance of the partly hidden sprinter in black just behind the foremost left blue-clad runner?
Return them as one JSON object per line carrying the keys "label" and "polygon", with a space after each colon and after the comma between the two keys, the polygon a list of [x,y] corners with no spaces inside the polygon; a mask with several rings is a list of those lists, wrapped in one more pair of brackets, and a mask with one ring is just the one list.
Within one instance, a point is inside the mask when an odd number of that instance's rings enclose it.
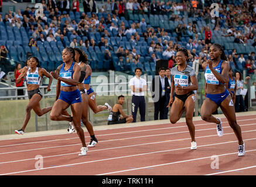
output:
{"label": "partly hidden sprinter in black just behind the foremost left blue-clad runner", "polygon": [[[84,77],[86,77],[86,63],[88,61],[88,56],[86,53],[84,53],[83,50],[80,50],[78,48],[74,48],[74,51],[76,53],[75,60],[78,65],[81,67],[81,77],[79,79],[79,84],[77,85],[77,88],[80,90],[81,96],[82,96],[82,103],[83,103],[83,112],[82,112],[82,122],[86,126],[86,129],[88,130],[91,141],[90,144],[88,144],[88,147],[94,147],[95,144],[98,143],[97,138],[94,135],[93,126],[91,122],[88,119],[88,95],[87,91],[84,88]],[[73,122],[70,122],[70,128],[68,129],[70,133],[73,133],[75,131]]]}

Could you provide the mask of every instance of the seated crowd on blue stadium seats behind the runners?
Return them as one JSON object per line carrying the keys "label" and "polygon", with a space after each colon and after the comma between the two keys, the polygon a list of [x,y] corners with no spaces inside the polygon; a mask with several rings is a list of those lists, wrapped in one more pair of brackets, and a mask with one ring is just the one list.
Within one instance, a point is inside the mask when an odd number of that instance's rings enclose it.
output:
{"label": "seated crowd on blue stadium seats behind the runners", "polygon": [[[248,74],[256,74],[254,1],[204,2],[107,0],[97,7],[94,0],[84,0],[83,6],[79,6],[77,0],[49,0],[47,4],[43,0],[42,17],[35,15],[35,8],[28,7],[5,15],[0,13],[0,22],[6,30],[24,28],[29,41],[23,40],[21,46],[28,45],[39,51],[32,50],[33,54],[41,54],[40,47],[46,47],[46,41],[53,53],[56,52],[53,46],[57,46],[58,53],[64,47],[81,47],[88,53],[94,70],[133,72],[132,68],[142,67],[152,72],[158,59],[168,60],[171,68],[176,64],[175,54],[180,47],[189,50],[190,65],[194,60],[202,65],[209,58],[211,43],[219,41],[234,70],[245,69]],[[213,2],[219,3],[219,17],[211,18]],[[5,40],[3,34],[0,40]],[[47,51],[47,54],[52,53]],[[43,54],[41,56],[39,59],[43,61]],[[57,53],[54,63],[56,61]],[[49,63],[52,60],[49,59]],[[53,69],[56,64],[49,67]]]}

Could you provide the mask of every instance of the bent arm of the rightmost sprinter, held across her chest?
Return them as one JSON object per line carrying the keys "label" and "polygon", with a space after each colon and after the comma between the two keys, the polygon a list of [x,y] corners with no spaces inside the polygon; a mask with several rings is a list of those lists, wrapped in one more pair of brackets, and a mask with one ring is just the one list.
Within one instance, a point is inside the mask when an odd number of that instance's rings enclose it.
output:
{"label": "bent arm of the rightmost sprinter, held across her chest", "polygon": [[213,75],[221,83],[225,84],[226,82],[228,82],[228,80],[229,80],[228,72],[229,72],[230,65],[227,61],[223,61],[223,63],[221,64],[221,68],[223,68],[221,74],[219,72],[217,72],[216,70],[214,70],[213,62],[211,60],[207,60],[207,64],[209,64],[209,69],[211,70],[211,72],[213,72]]}

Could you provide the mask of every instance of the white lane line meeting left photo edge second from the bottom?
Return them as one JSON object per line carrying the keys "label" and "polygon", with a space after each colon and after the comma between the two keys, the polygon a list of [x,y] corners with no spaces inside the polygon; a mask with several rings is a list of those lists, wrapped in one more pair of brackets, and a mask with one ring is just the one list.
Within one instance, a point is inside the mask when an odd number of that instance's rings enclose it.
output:
{"label": "white lane line meeting left photo edge second from the bottom", "polygon": [[[248,133],[248,132],[251,132],[251,131],[256,131],[256,130],[243,131],[243,133]],[[224,135],[228,135],[228,134],[233,134],[233,133],[226,133]],[[200,136],[200,137],[197,137],[197,138],[206,138],[206,137],[213,137],[213,136],[217,136],[217,134],[209,135],[209,136]],[[99,150],[90,150],[90,152],[112,150],[112,149],[115,149],[115,148],[127,148],[127,147],[136,147],[136,146],[145,146],[145,145],[150,145],[150,144],[160,144],[160,143],[168,143],[168,142],[172,142],[172,141],[181,141],[181,140],[190,140],[190,139],[191,138],[182,138],[182,139],[176,139],[176,140],[166,140],[166,141],[158,141],[158,142],[152,142],[152,143],[135,144],[135,145],[130,145],[130,146],[110,147],[110,148],[103,148],[103,149],[99,149]],[[67,153],[67,154],[59,154],[59,155],[50,155],[50,156],[46,156],[46,157],[42,157],[42,158],[61,157],[61,156],[65,156],[65,155],[78,154],[78,153],[80,153],[80,152]],[[8,163],[12,163],[12,162],[21,162],[21,161],[29,161],[29,160],[35,160],[35,158],[28,158],[28,159],[23,159],[23,160],[0,162],[0,164],[8,164]]]}

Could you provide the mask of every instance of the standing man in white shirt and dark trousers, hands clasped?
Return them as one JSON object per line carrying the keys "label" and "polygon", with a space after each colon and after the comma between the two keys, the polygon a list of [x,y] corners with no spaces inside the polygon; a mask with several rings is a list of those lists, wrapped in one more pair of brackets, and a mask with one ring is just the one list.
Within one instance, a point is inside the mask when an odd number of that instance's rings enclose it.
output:
{"label": "standing man in white shirt and dark trousers, hands clasped", "polygon": [[129,88],[131,88],[132,95],[132,117],[133,123],[136,122],[136,116],[139,108],[139,114],[141,115],[141,122],[145,122],[146,106],[144,92],[148,89],[145,79],[141,78],[142,69],[135,69],[135,77],[129,80]]}

